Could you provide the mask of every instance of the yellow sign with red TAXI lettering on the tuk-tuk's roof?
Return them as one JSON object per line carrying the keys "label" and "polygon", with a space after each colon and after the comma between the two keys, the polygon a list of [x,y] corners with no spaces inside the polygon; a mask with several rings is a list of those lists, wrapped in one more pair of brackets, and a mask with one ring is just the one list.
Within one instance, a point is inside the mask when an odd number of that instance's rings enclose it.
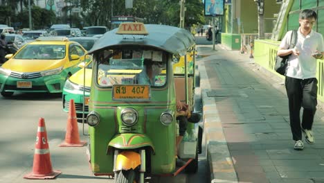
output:
{"label": "yellow sign with red TAXI lettering on the tuk-tuk's roof", "polygon": [[147,30],[141,22],[127,22],[119,25],[116,34],[120,35],[148,35]]}

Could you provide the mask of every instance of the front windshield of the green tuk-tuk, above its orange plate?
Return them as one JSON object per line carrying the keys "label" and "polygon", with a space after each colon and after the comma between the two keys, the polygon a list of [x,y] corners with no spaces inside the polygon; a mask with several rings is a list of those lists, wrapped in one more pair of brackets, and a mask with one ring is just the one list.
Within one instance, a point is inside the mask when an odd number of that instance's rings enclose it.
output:
{"label": "front windshield of the green tuk-tuk, above its orange plate", "polygon": [[[110,53],[110,54],[109,54]],[[162,51],[112,51],[107,58],[98,57],[97,82],[101,87],[112,85],[150,85],[162,87],[167,77]]]}

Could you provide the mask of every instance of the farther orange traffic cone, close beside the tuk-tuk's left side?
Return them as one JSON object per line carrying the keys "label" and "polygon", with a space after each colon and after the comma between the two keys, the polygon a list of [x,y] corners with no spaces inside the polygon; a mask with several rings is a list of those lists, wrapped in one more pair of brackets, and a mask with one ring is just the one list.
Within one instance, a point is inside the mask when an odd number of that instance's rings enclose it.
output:
{"label": "farther orange traffic cone, close beside the tuk-tuk's left side", "polygon": [[74,100],[70,100],[69,116],[66,124],[65,141],[60,144],[60,147],[82,147],[87,141],[80,141],[78,121],[75,113]]}

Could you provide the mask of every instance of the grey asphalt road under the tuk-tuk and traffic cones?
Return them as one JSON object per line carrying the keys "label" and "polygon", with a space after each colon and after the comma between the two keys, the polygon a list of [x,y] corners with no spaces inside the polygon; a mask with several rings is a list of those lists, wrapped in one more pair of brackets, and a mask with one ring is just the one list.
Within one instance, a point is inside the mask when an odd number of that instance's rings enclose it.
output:
{"label": "grey asphalt road under the tuk-tuk and traffic cones", "polygon": [[[33,169],[35,139],[40,117],[45,119],[53,169],[62,171],[62,175],[51,182],[114,182],[105,176],[93,176],[87,162],[86,147],[58,147],[64,141],[67,121],[67,114],[62,111],[61,100],[60,95],[48,94],[18,93],[11,98],[0,96],[0,182],[35,182],[25,180],[23,177]],[[197,101],[201,100],[197,98]],[[78,128],[80,139],[87,141],[87,137],[82,135],[82,125],[78,124]],[[87,125],[85,131],[87,132]],[[206,150],[203,150],[199,155],[198,173],[193,175],[181,173],[177,177],[152,177],[147,182],[195,183],[209,180]]]}

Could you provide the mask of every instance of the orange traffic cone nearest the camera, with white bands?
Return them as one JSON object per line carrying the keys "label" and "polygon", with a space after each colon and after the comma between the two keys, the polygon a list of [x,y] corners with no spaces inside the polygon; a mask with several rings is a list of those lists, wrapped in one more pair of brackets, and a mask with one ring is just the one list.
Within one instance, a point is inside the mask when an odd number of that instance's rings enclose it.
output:
{"label": "orange traffic cone nearest the camera, with white bands", "polygon": [[35,144],[33,172],[24,175],[25,179],[53,179],[62,172],[53,171],[49,153],[45,121],[39,119]]}

